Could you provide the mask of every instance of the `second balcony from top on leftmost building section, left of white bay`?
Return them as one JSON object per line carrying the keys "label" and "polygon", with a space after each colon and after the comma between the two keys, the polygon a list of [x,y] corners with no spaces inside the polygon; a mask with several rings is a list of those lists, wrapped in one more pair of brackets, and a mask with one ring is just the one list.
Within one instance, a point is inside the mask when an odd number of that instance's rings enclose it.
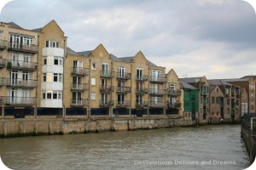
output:
{"label": "second balcony from top on leftmost building section, left of white bay", "polygon": [[38,63],[9,59],[7,63],[7,68],[20,71],[37,71]]}

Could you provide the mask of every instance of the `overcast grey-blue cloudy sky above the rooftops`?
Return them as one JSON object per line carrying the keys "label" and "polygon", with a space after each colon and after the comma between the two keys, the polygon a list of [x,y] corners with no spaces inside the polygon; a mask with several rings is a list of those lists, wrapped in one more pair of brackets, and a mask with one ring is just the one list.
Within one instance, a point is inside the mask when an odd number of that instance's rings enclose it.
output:
{"label": "overcast grey-blue cloudy sky above the rooftops", "polygon": [[241,0],[15,0],[0,20],[26,29],[55,20],[74,51],[141,50],[181,78],[256,75],[256,14]]}

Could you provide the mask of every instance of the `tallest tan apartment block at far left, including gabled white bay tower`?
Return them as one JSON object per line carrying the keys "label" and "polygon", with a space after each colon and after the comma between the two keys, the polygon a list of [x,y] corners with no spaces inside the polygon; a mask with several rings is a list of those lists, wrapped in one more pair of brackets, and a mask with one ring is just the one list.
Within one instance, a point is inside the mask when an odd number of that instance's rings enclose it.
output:
{"label": "tallest tan apartment block at far left, including gabled white bay tower", "polygon": [[0,106],[2,117],[62,116],[63,62],[67,37],[52,20],[26,30],[0,25]]}

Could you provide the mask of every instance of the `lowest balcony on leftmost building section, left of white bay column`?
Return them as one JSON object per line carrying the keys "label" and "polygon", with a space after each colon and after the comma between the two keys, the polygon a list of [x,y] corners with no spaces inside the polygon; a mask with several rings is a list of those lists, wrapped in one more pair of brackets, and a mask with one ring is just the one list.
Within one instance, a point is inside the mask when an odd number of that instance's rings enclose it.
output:
{"label": "lowest balcony on leftmost building section, left of white bay column", "polygon": [[6,105],[36,105],[36,98],[34,97],[5,97]]}

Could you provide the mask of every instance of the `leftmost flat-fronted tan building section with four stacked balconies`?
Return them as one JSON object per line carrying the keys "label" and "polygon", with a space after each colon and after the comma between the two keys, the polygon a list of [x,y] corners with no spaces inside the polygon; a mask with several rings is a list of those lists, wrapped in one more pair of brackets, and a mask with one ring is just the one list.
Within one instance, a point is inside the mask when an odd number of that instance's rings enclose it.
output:
{"label": "leftmost flat-fronted tan building section with four stacked balconies", "polygon": [[0,23],[0,115],[34,116],[38,87],[38,32]]}

